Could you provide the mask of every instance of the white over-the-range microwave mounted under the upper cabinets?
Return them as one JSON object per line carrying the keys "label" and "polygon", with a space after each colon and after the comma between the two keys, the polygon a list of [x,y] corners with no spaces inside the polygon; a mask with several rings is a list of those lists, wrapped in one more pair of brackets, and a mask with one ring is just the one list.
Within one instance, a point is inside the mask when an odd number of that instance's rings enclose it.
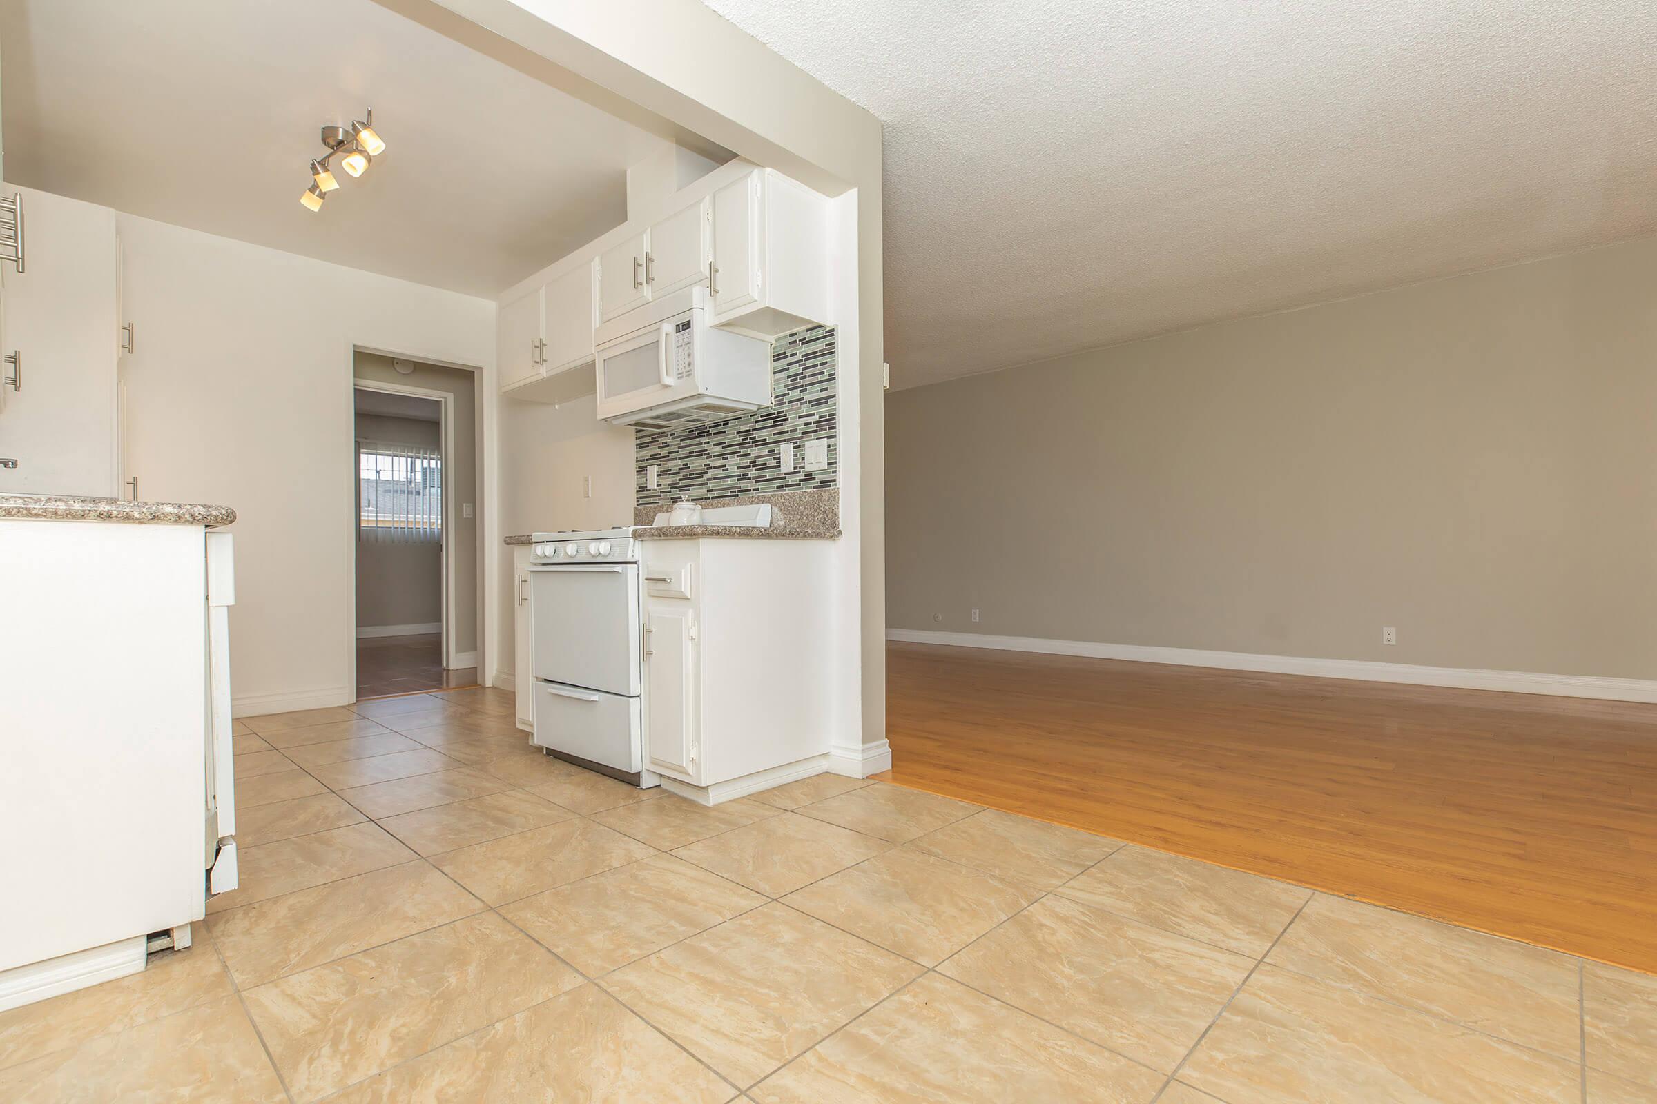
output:
{"label": "white over-the-range microwave mounted under the upper cabinets", "polygon": [[628,311],[598,346],[598,417],[671,429],[771,406],[771,343],[708,324],[706,288]]}

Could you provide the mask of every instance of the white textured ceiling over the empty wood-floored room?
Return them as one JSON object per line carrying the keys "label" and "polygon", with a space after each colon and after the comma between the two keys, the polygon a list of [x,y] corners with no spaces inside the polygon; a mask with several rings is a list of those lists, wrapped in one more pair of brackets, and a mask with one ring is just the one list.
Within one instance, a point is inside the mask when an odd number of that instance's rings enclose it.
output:
{"label": "white textured ceiling over the empty wood-floored room", "polygon": [[885,124],[895,387],[1657,232],[1650,0],[706,0]]}

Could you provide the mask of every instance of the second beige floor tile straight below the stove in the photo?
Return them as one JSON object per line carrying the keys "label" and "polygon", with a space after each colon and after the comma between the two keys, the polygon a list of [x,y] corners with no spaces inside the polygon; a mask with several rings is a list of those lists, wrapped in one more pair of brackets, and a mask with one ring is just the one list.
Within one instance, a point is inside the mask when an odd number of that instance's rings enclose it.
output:
{"label": "second beige floor tile straight below the stove in the photo", "polygon": [[572,819],[490,839],[431,861],[492,905],[656,854],[603,824]]}

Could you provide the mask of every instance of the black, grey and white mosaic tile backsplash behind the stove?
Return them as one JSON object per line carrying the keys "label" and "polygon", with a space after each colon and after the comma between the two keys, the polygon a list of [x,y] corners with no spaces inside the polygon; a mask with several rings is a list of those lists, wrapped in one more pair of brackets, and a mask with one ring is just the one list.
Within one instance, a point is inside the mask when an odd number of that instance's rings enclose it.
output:
{"label": "black, grey and white mosaic tile backsplash behind the stove", "polygon": [[[835,331],[812,326],[771,346],[772,406],[708,425],[635,430],[638,505],[708,502],[737,495],[838,487],[835,442]],[[805,470],[805,442],[828,440],[828,467]],[[794,470],[777,445],[794,442]],[[656,490],[645,470],[656,465]]]}

